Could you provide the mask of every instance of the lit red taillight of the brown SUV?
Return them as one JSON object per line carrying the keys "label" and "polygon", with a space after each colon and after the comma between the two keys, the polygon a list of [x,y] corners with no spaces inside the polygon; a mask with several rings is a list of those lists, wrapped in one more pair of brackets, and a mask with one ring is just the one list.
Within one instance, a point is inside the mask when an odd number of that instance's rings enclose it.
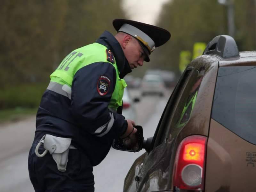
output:
{"label": "lit red taillight of the brown SUV", "polygon": [[174,162],[173,186],[187,190],[204,190],[204,162],[207,138],[193,135],[179,145]]}

